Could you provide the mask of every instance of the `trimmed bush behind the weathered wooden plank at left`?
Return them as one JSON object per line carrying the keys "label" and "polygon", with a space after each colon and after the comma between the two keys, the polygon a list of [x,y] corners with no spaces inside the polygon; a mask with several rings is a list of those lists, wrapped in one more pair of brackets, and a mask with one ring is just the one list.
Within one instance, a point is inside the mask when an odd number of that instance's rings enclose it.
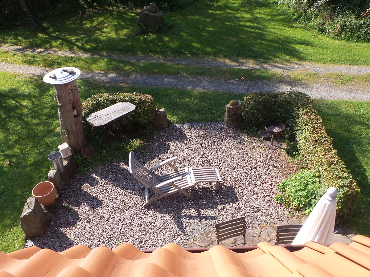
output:
{"label": "trimmed bush behind the weathered wooden plank at left", "polygon": [[[98,110],[118,102],[129,102],[136,106],[136,111],[117,122],[104,127],[95,128],[87,123],[86,117]],[[99,93],[91,96],[82,103],[83,124],[85,136],[90,143],[102,143],[107,137],[149,136],[154,131],[154,116],[156,111],[153,96],[133,93]]]}

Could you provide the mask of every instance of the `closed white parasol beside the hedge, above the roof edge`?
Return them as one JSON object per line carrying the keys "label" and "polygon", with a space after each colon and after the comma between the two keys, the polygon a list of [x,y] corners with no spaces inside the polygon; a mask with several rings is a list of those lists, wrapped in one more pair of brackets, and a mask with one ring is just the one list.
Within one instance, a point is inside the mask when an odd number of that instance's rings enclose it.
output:
{"label": "closed white parasol beside the hedge, above the roof edge", "polygon": [[305,244],[313,240],[321,244],[331,244],[333,239],[338,191],[330,187],[320,198],[292,244]]}

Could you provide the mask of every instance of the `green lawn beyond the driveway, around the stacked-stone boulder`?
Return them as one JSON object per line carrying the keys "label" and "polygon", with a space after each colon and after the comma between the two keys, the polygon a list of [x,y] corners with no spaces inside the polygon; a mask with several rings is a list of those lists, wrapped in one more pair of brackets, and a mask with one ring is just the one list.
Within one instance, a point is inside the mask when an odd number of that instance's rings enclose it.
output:
{"label": "green lawn beyond the driveway, around the stacked-stone boulder", "polygon": [[100,53],[370,64],[369,43],[336,41],[310,31],[294,23],[273,0],[201,0],[166,13],[166,21],[174,25],[171,30],[129,37],[138,16],[133,11],[104,11],[53,18],[44,30],[3,31],[0,42]]}

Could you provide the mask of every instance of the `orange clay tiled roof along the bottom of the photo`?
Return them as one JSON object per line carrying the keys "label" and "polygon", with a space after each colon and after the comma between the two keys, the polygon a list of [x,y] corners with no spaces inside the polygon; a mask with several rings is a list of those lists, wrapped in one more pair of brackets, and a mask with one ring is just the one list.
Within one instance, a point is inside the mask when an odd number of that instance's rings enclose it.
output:
{"label": "orange clay tiled roof along the bottom of the photo", "polygon": [[60,253],[32,246],[0,252],[0,276],[370,276],[370,239],[352,240],[349,245],[336,242],[329,247],[307,242],[294,252],[261,242],[245,253],[221,245],[191,253],[173,243],[152,253],[129,243],[114,250],[80,245]]}

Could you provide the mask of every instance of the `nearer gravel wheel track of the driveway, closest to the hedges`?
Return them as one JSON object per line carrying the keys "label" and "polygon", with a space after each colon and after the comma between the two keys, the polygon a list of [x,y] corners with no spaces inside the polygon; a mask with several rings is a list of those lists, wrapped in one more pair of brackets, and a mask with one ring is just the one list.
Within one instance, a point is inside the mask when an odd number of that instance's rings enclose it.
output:
{"label": "nearer gravel wheel track of the driveway, closest to the hedges", "polygon": [[[0,62],[0,71],[19,72],[36,75],[40,78],[50,71],[29,65],[10,64]],[[104,72],[82,72],[81,79],[90,79],[105,83],[120,83],[122,86],[138,87],[170,87],[181,89],[199,89],[212,92],[229,91],[246,93],[246,82],[236,80],[218,80],[208,77],[194,77],[187,75],[148,75],[148,74],[117,74]],[[370,90],[353,86],[337,87],[328,83],[305,83],[293,81],[253,81],[250,82],[249,92],[296,90],[317,99],[349,99],[370,100]]]}

